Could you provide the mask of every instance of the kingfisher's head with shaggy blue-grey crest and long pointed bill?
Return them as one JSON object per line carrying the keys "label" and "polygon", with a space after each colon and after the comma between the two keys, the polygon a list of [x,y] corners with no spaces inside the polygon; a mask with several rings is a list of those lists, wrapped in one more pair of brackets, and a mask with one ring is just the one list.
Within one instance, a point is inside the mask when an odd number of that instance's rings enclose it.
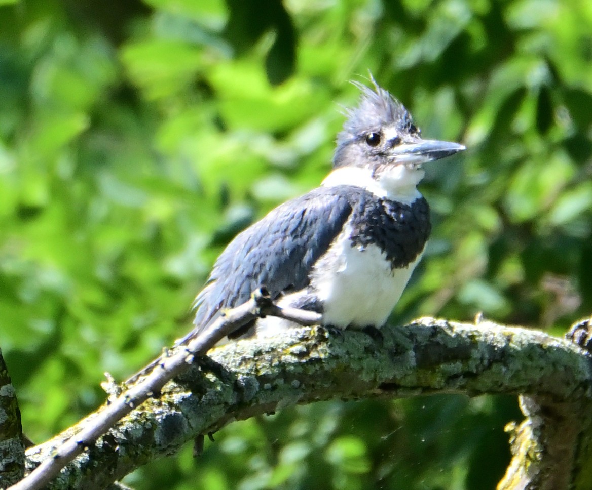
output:
{"label": "kingfisher's head with shaggy blue-grey crest and long pointed bill", "polygon": [[382,181],[388,193],[396,193],[398,187],[414,188],[419,183],[423,163],[465,150],[458,143],[423,139],[403,104],[371,80],[374,89],[353,82],[362,96],[356,108],[346,110],[348,119],[337,135],[334,172],[363,169]]}

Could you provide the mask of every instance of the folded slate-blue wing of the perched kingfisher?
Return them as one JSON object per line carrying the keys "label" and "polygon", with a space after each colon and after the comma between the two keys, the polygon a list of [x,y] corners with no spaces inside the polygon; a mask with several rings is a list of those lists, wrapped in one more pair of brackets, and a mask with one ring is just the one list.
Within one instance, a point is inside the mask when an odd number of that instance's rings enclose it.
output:
{"label": "folded slate-blue wing of the perched kingfisher", "polygon": [[272,297],[301,290],[321,255],[352,212],[335,187],[319,187],[276,207],[239,233],[220,254],[197,295],[195,329],[207,328],[221,309],[244,303],[258,287]]}

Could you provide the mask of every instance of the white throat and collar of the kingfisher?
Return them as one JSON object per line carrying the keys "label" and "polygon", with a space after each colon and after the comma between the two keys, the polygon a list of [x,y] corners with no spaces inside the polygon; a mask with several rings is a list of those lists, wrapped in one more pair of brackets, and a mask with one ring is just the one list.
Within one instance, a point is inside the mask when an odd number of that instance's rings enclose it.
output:
{"label": "white throat and collar of the kingfisher", "polygon": [[378,197],[411,204],[422,196],[417,184],[423,179],[424,171],[418,167],[403,164],[388,166],[373,174],[371,168],[340,167],[334,169],[325,180],[324,187],[356,186],[366,189]]}

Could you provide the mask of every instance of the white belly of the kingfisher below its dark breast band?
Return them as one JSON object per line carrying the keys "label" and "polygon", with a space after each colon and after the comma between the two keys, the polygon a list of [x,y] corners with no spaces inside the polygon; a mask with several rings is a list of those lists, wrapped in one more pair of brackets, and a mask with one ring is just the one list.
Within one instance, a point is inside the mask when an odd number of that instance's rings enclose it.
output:
{"label": "white belly of the kingfisher below its dark breast band", "polygon": [[352,247],[344,233],[311,277],[324,303],[323,323],[341,328],[384,325],[421,257],[392,270],[378,246]]}

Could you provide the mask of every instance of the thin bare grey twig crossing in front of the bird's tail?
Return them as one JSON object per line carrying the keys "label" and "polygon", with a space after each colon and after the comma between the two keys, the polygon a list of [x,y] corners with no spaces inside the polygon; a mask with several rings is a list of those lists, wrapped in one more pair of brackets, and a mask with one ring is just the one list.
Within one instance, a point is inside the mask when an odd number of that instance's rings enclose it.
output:
{"label": "thin bare grey twig crossing in front of the bird's tail", "polygon": [[160,392],[160,389],[192,364],[195,355],[202,355],[220,339],[261,316],[278,316],[287,320],[310,325],[318,323],[321,316],[312,311],[282,309],[276,306],[261,290],[255,291],[246,303],[226,311],[207,330],[189,337],[183,345],[175,348],[169,356],[161,356],[150,363],[133,379],[141,380],[117,398],[110,400],[105,410],[100,411],[91,423],[70,437],[56,449],[52,457],[37,466],[27,477],[9,487],[9,490],[37,490],[48,485],[60,469],[106,433],[118,420],[125,417],[138,405]]}

